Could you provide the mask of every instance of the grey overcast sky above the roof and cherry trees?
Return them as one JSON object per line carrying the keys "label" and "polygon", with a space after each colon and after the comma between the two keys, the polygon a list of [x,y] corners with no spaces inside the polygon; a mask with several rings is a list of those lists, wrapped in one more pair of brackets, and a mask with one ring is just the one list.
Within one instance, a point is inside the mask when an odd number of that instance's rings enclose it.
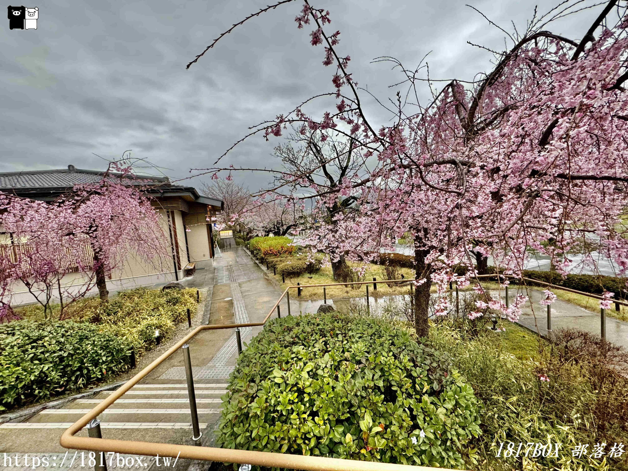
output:
{"label": "grey overcast sky above the roof and cherry trees", "polygon": [[[14,2],[15,3],[15,2]],[[492,56],[467,41],[504,49],[511,20],[525,29],[535,2],[321,0],[340,30],[341,55],[350,72],[380,99],[398,72],[390,55],[408,67],[429,51],[430,75],[470,80],[490,68]],[[549,3],[549,2],[548,2]],[[13,4],[13,3],[12,3]],[[21,4],[21,3],[19,3]],[[279,6],[225,36],[190,70],[185,66],[215,37],[268,0],[175,2],[45,1],[36,30],[0,28],[0,171],[77,168],[104,170],[132,149],[165,168],[173,179],[210,166],[244,136],[247,127],[290,111],[311,95],[333,91],[332,67],[322,65],[322,46],[309,43],[312,28],[296,28],[300,1]],[[553,3],[552,3],[553,4]],[[541,2],[541,8],[548,8]],[[579,40],[602,7],[565,18],[551,28]],[[332,30],[333,28],[333,30]],[[376,125],[387,115],[366,100]],[[273,146],[252,138],[225,157],[225,165],[271,166]],[[153,171],[154,173],[154,171]],[[251,190],[264,175],[236,175]],[[187,184],[198,187],[200,178]]]}

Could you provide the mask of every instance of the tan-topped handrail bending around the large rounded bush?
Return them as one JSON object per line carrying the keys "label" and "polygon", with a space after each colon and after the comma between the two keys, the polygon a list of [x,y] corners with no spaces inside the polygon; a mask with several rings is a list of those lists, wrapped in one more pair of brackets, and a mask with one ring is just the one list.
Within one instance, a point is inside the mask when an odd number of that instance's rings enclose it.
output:
{"label": "tan-topped handrail bending around the large rounded bush", "polygon": [[[371,284],[371,283],[405,283],[414,281],[413,279],[398,279],[386,281],[368,281],[350,284]],[[349,283],[333,283],[344,285]],[[171,458],[187,458],[191,460],[205,460],[225,463],[247,463],[251,465],[259,465],[264,467],[278,467],[287,469],[302,469],[310,471],[428,471],[436,468],[425,466],[401,465],[394,463],[379,463],[359,460],[346,460],[341,458],[323,458],[303,455],[290,455],[287,453],[270,453],[270,452],[252,452],[250,450],[232,450],[230,448],[215,447],[198,447],[195,445],[171,445],[169,443],[151,443],[147,441],[132,440],[111,440],[107,438],[93,438],[76,436],[78,431],[84,428],[91,420],[95,419],[100,413],[105,411],[117,399],[129,391],[131,387],[138,384],[151,371],[158,367],[164,360],[183,347],[197,333],[203,330],[221,330],[225,328],[239,327],[259,327],[263,326],[273,315],[273,311],[277,308],[281,300],[283,300],[288,290],[293,288],[307,288],[315,285],[288,286],[279,300],[274,304],[263,322],[243,323],[243,324],[220,324],[220,325],[201,325],[181,338],[175,345],[170,347],[164,354],[153,360],[151,364],[142,371],[124,383],[119,389],[110,394],[100,404],[94,407],[89,413],[85,414],[73,423],[70,428],[63,432],[60,444],[64,448],[74,448],[78,450],[90,450],[94,452],[114,452],[126,453],[130,455],[147,455],[171,457]],[[325,286],[325,285],[318,285]],[[332,285],[326,285],[332,286]],[[449,468],[438,468],[444,471],[453,471]]]}

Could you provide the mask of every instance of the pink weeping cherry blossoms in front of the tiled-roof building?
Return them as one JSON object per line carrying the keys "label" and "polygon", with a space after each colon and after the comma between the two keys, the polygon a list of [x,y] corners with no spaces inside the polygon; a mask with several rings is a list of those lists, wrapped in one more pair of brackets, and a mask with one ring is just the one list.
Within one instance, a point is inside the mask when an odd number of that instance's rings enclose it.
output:
{"label": "pink weeping cherry blossoms in front of the tiled-roof building", "polygon": [[[0,248],[0,293],[9,311],[16,282],[50,310],[56,297],[63,310],[94,286],[107,301],[107,274],[132,257],[159,268],[167,255],[160,215],[139,185],[117,180],[107,171],[98,183],[76,185],[54,202],[41,202],[0,193],[0,225],[9,243]],[[82,284],[64,284],[68,273],[82,274]]]}

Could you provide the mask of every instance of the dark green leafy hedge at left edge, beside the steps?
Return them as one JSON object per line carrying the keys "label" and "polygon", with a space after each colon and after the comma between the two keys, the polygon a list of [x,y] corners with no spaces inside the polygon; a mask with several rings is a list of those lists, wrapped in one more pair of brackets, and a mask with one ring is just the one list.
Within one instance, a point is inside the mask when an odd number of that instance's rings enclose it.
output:
{"label": "dark green leafy hedge at left edge, beside the steps", "polygon": [[0,410],[24,406],[126,371],[131,344],[90,323],[0,325]]}

